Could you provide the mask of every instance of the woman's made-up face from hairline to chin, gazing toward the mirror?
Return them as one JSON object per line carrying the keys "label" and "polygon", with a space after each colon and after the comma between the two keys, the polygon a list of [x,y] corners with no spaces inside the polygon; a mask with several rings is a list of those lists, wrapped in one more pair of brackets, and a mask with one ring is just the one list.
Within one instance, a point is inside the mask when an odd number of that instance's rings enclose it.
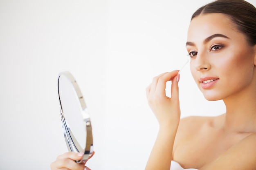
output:
{"label": "woman's made-up face from hairline to chin, gazing toward the mirror", "polygon": [[255,88],[255,51],[227,15],[211,13],[193,18],[186,49],[193,78],[207,100],[234,97]]}

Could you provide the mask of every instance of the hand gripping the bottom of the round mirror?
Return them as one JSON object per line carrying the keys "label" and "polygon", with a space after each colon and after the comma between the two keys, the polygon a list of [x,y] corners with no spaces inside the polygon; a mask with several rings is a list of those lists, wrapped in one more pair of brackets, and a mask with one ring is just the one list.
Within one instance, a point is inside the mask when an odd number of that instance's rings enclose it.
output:
{"label": "hand gripping the bottom of the round mirror", "polygon": [[[89,159],[94,155],[94,152],[89,157]],[[51,170],[90,170],[90,168],[85,167],[85,163],[76,163],[76,160],[80,160],[83,157],[83,153],[76,152],[66,152],[59,155],[56,160],[51,163]]]}

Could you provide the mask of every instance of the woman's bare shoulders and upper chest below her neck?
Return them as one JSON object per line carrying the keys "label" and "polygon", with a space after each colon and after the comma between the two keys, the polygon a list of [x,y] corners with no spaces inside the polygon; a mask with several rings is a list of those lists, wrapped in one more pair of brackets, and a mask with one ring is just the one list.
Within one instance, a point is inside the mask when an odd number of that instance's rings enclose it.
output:
{"label": "woman's bare shoulders and upper chest below her neck", "polygon": [[222,133],[224,120],[225,115],[181,119],[173,146],[173,160],[183,168],[256,170],[256,133]]}

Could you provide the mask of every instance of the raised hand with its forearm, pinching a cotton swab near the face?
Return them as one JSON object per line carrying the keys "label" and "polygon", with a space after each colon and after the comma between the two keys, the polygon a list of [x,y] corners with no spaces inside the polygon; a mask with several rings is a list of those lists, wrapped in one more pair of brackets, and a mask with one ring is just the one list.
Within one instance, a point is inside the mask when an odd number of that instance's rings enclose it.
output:
{"label": "raised hand with its forearm, pinching a cotton swab near the face", "polygon": [[[145,170],[170,170],[174,139],[180,122],[178,72],[158,75],[146,89],[148,104],[159,122],[159,132]],[[172,81],[171,97],[165,93],[168,81]]]}

